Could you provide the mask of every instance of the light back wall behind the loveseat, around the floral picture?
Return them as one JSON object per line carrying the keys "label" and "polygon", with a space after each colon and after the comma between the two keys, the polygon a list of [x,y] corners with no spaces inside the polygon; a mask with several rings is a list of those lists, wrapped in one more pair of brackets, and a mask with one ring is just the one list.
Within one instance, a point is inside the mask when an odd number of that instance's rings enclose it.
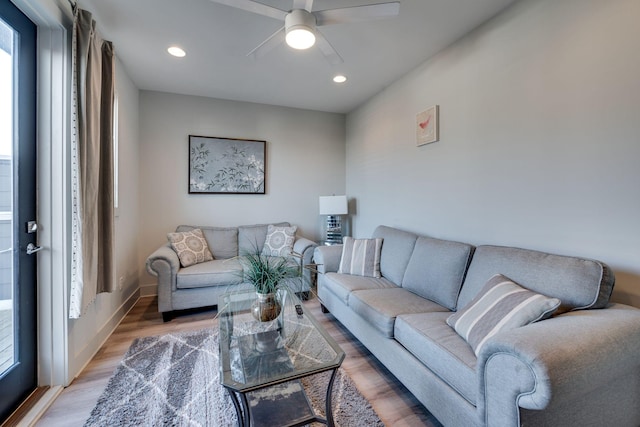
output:
{"label": "light back wall behind the loveseat, around the floral picture", "polygon": [[[179,224],[289,221],[319,237],[318,196],[344,192],[341,114],[142,91],[139,268]],[[189,135],[267,141],[266,194],[188,194]],[[146,292],[146,291],[143,291]]]}

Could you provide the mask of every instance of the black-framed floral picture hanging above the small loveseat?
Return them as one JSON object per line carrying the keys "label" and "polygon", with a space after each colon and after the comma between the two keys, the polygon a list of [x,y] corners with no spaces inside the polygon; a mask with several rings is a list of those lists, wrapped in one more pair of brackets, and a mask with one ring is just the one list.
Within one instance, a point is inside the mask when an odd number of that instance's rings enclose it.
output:
{"label": "black-framed floral picture hanging above the small loveseat", "polygon": [[189,135],[189,193],[265,194],[266,144]]}

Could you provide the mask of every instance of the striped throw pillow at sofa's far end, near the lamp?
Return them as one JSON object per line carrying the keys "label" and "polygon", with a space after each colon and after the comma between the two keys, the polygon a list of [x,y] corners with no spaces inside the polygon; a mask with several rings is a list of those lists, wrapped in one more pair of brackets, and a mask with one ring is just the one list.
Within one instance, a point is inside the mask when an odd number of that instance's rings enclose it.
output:
{"label": "striped throw pillow at sofa's far end, near the lamp", "polygon": [[380,278],[382,239],[345,237],[338,273]]}

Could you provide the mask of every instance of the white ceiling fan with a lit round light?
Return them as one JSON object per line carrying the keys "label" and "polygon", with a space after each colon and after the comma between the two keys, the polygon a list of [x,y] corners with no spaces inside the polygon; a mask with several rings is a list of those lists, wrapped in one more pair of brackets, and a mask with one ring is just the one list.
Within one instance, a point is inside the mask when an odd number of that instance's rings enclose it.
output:
{"label": "white ceiling fan with a lit round light", "polygon": [[286,41],[294,49],[308,49],[317,43],[322,54],[332,65],[342,63],[343,59],[318,31],[318,27],[384,19],[396,16],[400,12],[399,1],[312,11],[313,0],[293,0],[293,9],[288,12],[253,0],[211,1],[284,21],[282,28],[249,52],[247,56],[261,57],[283,41]]}

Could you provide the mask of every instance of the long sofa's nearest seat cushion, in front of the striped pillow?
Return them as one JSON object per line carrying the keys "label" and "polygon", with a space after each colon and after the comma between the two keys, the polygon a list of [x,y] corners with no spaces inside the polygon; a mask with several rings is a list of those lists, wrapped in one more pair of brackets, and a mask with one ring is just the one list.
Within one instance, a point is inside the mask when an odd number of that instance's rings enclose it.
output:
{"label": "long sofa's nearest seat cushion, in front of the striped pillow", "polygon": [[477,358],[469,344],[447,325],[449,315],[449,312],[401,314],[395,323],[395,339],[475,405]]}

